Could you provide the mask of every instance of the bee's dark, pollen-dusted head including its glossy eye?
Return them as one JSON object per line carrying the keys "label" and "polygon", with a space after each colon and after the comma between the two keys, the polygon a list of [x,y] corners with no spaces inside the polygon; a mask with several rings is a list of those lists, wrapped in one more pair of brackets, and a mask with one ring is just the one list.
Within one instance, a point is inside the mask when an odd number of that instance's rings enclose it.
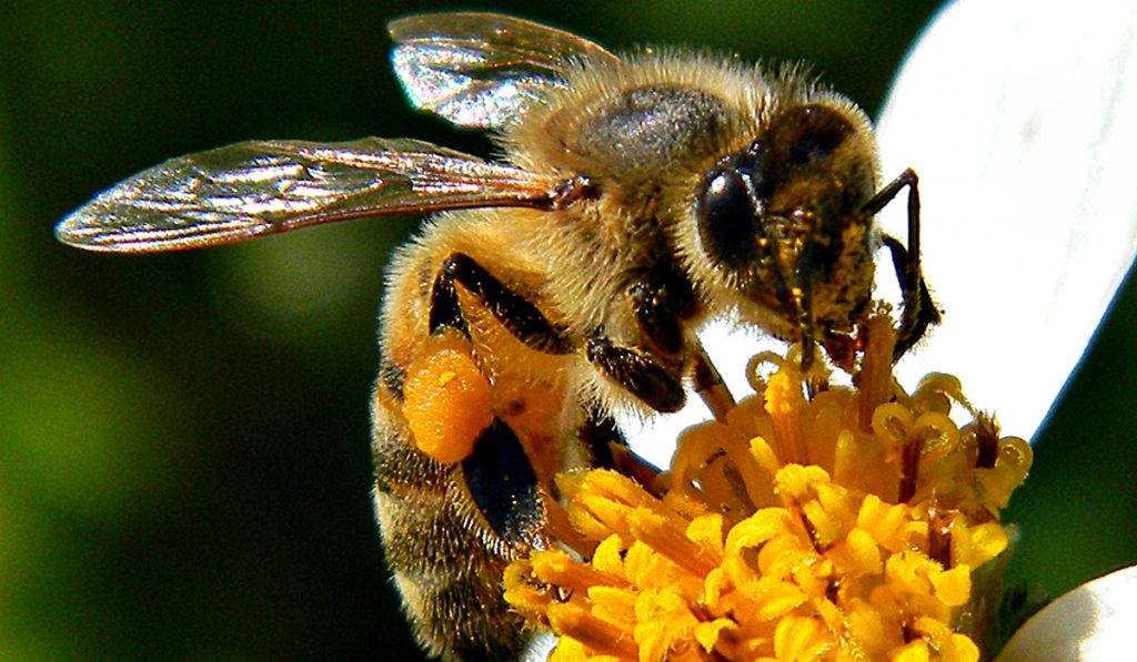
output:
{"label": "bee's dark, pollen-dusted head including its glossy eye", "polygon": [[[774,116],[703,176],[702,250],[730,287],[772,311],[790,340],[812,343],[868,305],[875,186],[868,123],[848,104],[802,103]],[[845,324],[847,326],[847,324]]]}

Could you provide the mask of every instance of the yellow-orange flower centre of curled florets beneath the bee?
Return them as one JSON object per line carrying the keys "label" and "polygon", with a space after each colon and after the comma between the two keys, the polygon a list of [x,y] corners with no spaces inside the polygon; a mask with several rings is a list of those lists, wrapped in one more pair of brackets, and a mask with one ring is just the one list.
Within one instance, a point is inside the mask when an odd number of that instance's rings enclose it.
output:
{"label": "yellow-orange flower centre of curled florets beneath the bee", "polygon": [[573,552],[506,573],[553,660],[979,659],[1030,447],[946,375],[899,389],[887,316],[866,335],[856,388],[756,357],[756,395],[684,434],[655,485],[561,477]]}

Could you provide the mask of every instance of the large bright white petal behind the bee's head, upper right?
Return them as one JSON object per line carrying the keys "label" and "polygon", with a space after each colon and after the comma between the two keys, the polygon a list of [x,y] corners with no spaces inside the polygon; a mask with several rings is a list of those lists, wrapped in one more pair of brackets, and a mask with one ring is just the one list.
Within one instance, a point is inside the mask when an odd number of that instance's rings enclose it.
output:
{"label": "large bright white petal behind the bee's head, upper right", "polygon": [[953,372],[1007,434],[1035,434],[1137,250],[1135,44],[1129,1],[962,0],[920,39],[879,131],[886,177],[920,175],[946,311],[906,386]]}

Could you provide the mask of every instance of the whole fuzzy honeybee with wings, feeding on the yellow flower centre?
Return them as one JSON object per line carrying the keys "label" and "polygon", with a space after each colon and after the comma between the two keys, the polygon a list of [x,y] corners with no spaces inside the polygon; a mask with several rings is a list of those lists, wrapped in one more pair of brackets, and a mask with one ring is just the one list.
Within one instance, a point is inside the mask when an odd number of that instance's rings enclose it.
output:
{"label": "whole fuzzy honeybee with wings, feeding on the yellow flower centre", "polygon": [[[439,212],[395,255],[373,396],[374,500],[426,652],[516,656],[504,567],[554,544],[555,474],[634,471],[613,413],[732,405],[698,332],[731,316],[856,358],[887,248],[897,355],[938,321],[916,177],[880,186],[865,114],[800,69],[644,50],[617,57],[491,14],[390,24],[412,103],[495,132],[485,161],[416,140],[243,142],[166,161],[56,228],[151,252],[325,223]],[[904,244],[873,226],[907,190]]]}

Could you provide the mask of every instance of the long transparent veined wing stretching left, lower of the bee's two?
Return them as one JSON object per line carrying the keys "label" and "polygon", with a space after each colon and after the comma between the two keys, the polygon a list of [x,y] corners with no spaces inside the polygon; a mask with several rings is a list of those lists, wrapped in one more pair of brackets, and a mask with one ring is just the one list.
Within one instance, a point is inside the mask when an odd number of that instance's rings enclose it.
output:
{"label": "long transparent veined wing stretching left, lower of the bee's two", "polygon": [[393,213],[543,208],[558,182],[415,140],[254,141],[143,170],[56,236],[92,251],[182,250]]}

